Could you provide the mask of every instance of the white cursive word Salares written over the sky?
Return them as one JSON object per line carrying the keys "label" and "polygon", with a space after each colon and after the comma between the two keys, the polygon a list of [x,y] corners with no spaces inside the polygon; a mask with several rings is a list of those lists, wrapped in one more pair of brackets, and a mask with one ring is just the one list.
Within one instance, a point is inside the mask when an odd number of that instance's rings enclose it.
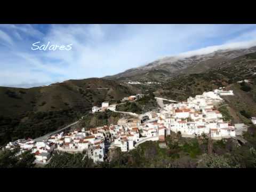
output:
{"label": "white cursive word Salares written over the sky", "polygon": [[41,42],[36,42],[32,44],[31,50],[35,51],[35,50],[41,50],[41,51],[55,51],[55,50],[66,50],[69,51],[72,49],[72,44],[69,45],[50,45],[50,42],[48,42],[46,45],[40,45]]}

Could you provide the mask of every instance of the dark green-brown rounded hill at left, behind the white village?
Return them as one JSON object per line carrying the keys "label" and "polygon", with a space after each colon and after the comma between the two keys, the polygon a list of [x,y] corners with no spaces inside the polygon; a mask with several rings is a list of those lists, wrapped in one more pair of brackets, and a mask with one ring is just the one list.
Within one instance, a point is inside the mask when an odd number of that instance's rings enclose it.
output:
{"label": "dark green-brown rounded hill at left, behind the white village", "polygon": [[75,121],[107,100],[116,102],[140,91],[101,78],[69,80],[20,89],[0,87],[1,144],[22,137],[39,137]]}

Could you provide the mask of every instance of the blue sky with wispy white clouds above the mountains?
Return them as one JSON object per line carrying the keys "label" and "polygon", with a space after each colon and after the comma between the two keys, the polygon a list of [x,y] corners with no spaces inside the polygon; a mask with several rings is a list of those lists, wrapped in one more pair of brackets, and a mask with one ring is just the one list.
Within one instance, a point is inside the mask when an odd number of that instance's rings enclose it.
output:
{"label": "blue sky with wispy white clouds above the mountains", "polygon": [[[46,50],[36,49],[47,44]],[[65,49],[50,49],[56,45]],[[0,86],[103,77],[167,56],[254,45],[256,25],[5,24],[0,25]]]}

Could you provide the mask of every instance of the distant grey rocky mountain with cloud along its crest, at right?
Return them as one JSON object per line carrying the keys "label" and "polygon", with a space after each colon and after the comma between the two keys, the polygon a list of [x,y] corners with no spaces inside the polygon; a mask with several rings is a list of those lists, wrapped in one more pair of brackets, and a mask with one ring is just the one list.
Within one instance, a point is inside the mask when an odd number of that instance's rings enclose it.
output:
{"label": "distant grey rocky mountain with cloud along its crest, at right", "polygon": [[185,57],[182,55],[165,57],[145,66],[132,68],[106,79],[119,81],[158,81],[164,82],[170,77],[180,74],[202,73],[210,68],[224,67],[231,59],[256,52],[256,46],[250,49],[218,50],[209,54]]}

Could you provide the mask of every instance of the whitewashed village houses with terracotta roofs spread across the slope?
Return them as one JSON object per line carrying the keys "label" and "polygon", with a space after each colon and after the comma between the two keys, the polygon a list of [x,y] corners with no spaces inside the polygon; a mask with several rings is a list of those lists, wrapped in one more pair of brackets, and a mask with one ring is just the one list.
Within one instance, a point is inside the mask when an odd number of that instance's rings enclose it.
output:
{"label": "whitewashed village houses with terracotta roofs spread across the slope", "polygon": [[[224,88],[204,92],[194,98],[189,97],[187,101],[173,101],[158,111],[148,111],[138,117],[120,118],[116,125],[89,130],[82,127],[80,130],[53,134],[42,141],[19,139],[7,143],[5,148],[13,150],[19,147],[19,153],[31,150],[35,154],[35,163],[48,163],[54,150],[58,153],[83,153],[97,163],[105,160],[106,153],[111,148],[120,148],[126,152],[149,140],[159,141],[159,145],[165,147],[165,137],[172,132],[192,138],[200,135],[207,135],[212,139],[236,137],[246,131],[246,126],[242,123],[231,125],[230,122],[223,121],[222,114],[216,109],[223,101],[222,95],[234,95],[233,91],[225,91]],[[123,101],[134,101],[141,97],[142,94],[132,95]],[[109,106],[106,101],[101,107],[92,107],[92,113],[105,110],[115,111],[115,105]],[[256,123],[255,121],[256,118],[253,117],[252,122]]]}

